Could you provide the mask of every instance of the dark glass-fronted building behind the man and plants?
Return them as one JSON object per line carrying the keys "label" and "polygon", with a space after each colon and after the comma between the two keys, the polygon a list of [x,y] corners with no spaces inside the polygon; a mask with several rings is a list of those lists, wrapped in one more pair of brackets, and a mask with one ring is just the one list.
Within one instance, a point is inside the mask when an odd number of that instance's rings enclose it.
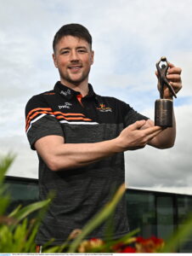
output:
{"label": "dark glass-fronted building behind the man and plants", "polygon": [[[5,182],[12,199],[8,211],[19,204],[38,201],[37,179],[7,176]],[[130,230],[139,228],[138,235],[145,238],[157,236],[166,240],[192,212],[192,195],[127,189],[126,197]],[[179,252],[192,252],[192,237],[180,246]]]}

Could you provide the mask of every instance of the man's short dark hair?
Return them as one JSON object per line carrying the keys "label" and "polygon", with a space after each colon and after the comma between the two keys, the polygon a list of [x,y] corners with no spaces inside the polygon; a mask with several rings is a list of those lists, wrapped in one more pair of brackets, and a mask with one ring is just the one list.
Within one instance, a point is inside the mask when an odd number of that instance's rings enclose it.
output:
{"label": "man's short dark hair", "polygon": [[65,36],[72,36],[76,38],[82,38],[90,44],[92,47],[92,36],[88,32],[88,29],[81,24],[71,23],[61,26],[58,32],[54,36],[53,49],[55,50],[55,45],[59,43],[59,40]]}

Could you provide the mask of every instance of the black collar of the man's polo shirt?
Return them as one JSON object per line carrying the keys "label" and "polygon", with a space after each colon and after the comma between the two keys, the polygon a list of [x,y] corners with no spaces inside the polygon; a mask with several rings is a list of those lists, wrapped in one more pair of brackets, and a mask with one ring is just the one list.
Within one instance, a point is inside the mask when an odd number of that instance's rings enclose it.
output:
{"label": "black collar of the man's polo shirt", "polygon": [[[77,96],[80,94],[79,91],[72,90],[71,88],[65,86],[64,84],[61,84],[60,81],[58,81],[54,85],[54,91],[59,93],[61,96],[64,96],[68,100],[71,100],[73,96]],[[93,86],[91,84],[88,84],[88,95],[85,96],[85,98],[90,98],[90,97],[96,97],[96,94],[93,90]]]}

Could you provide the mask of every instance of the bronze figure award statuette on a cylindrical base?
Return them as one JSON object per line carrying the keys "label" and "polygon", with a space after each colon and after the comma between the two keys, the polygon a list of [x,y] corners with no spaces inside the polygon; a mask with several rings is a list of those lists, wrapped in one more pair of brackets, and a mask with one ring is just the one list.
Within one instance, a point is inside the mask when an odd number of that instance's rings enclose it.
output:
{"label": "bronze figure award statuette on a cylindrical base", "polygon": [[[161,62],[163,62],[163,64]],[[172,89],[172,85],[169,84],[167,80],[168,68],[167,58],[161,57],[161,60],[156,63],[161,98],[155,101],[155,125],[165,128],[172,127],[173,102],[172,100],[164,98],[164,87],[167,86],[172,96],[177,98],[175,91]]]}

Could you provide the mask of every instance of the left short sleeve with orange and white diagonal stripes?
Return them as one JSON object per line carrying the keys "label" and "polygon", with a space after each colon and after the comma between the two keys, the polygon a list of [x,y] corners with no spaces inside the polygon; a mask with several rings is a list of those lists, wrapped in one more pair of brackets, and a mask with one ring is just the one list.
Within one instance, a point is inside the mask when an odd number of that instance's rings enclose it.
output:
{"label": "left short sleeve with orange and white diagonal stripes", "polygon": [[59,121],[42,95],[33,96],[26,104],[25,132],[33,150],[35,150],[34,143],[41,137],[48,135],[64,137]]}

